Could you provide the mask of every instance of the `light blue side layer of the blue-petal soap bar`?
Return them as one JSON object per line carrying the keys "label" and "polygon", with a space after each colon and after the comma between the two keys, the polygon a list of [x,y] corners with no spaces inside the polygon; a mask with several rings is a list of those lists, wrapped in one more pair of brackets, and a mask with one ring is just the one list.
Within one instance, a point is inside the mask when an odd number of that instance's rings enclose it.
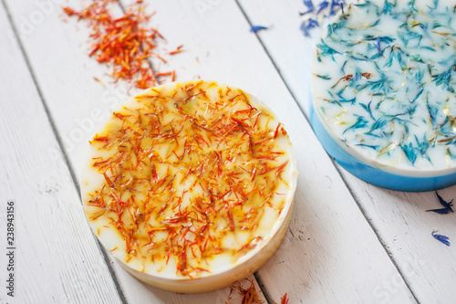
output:
{"label": "light blue side layer of the blue-petal soap bar", "polygon": [[432,177],[412,177],[388,173],[381,169],[374,168],[365,162],[360,162],[357,158],[340,147],[340,145],[327,133],[316,115],[313,102],[310,100],[309,103],[310,123],[312,129],[314,129],[314,132],[316,133],[316,137],[329,156],[359,179],[377,185],[378,187],[405,192],[434,191],[456,184],[456,173]]}

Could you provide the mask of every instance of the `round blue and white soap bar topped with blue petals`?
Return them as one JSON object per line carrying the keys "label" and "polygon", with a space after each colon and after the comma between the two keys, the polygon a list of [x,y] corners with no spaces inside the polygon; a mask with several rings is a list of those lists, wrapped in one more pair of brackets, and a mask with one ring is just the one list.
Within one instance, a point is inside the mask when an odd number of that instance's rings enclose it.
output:
{"label": "round blue and white soap bar topped with blue petals", "polygon": [[312,58],[311,122],[368,183],[456,183],[456,1],[366,1],[327,26]]}

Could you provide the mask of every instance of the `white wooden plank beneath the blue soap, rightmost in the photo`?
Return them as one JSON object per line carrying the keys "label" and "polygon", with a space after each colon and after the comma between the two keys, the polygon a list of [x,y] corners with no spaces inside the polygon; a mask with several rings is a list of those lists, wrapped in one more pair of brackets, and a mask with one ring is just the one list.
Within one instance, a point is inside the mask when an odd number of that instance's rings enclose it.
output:
{"label": "white wooden plank beneath the blue soap, rightmost in the photo", "polygon": [[[306,8],[299,1],[241,0],[240,5],[255,24],[273,25],[259,33],[265,49],[293,92],[301,108],[307,111],[310,58],[320,30],[305,38],[299,31],[298,12]],[[400,193],[369,185],[339,168],[358,204],[376,229],[381,242],[399,267],[414,295],[423,303],[447,303],[456,297],[456,249],[430,236],[432,230],[452,236],[455,215],[436,215],[425,210],[439,207],[433,193]],[[456,187],[439,192],[447,200],[456,197]],[[380,299],[394,299],[394,279],[385,280],[378,289]]]}

